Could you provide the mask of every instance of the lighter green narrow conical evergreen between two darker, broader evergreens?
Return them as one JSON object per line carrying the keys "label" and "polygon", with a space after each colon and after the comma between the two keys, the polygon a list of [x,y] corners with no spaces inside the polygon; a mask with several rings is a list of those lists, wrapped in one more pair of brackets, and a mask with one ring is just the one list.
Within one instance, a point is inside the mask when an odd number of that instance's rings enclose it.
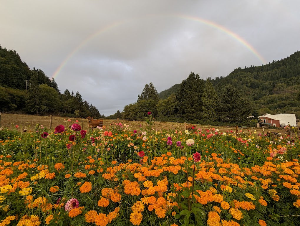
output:
{"label": "lighter green narrow conical evergreen between two darker, broader evergreens", "polygon": [[206,81],[203,90],[202,101],[202,119],[205,122],[214,122],[217,120],[218,96],[212,83]]}

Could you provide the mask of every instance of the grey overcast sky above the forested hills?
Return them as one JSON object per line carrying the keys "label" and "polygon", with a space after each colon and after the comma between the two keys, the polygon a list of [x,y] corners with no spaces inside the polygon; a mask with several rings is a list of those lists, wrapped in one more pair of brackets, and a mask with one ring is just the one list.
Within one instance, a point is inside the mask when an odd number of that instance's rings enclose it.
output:
{"label": "grey overcast sky above the forested hills", "polygon": [[0,0],[0,44],[109,116],[186,79],[300,50],[300,1]]}

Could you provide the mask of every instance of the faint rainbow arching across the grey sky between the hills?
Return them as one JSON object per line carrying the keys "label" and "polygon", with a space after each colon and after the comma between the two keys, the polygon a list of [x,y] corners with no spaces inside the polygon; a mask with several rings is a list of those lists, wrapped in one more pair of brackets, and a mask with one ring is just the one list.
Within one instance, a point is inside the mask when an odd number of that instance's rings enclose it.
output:
{"label": "faint rainbow arching across the grey sky between the hills", "polygon": [[[166,15],[164,15],[166,16]],[[250,50],[250,52],[252,52],[261,62],[262,64],[265,64],[265,59],[258,53],[257,50],[254,49],[253,46],[251,46],[246,40],[244,40],[243,38],[241,38],[239,35],[235,34],[234,32],[230,31],[229,29],[214,23],[212,21],[209,20],[204,20],[200,17],[191,17],[191,16],[187,16],[187,15],[175,15],[175,14],[169,14],[167,15],[167,17],[176,17],[176,18],[181,18],[184,20],[193,20],[202,24],[205,24],[207,26],[213,27],[215,29],[218,29],[224,33],[226,33],[227,35],[229,35],[230,37],[232,37],[233,39],[235,39],[236,41],[240,42],[242,45],[244,45],[248,50]],[[53,78],[56,78],[59,74],[59,72],[61,71],[61,69],[64,67],[64,65],[67,64],[67,62],[69,61],[69,59],[78,51],[80,50],[85,44],[87,44],[90,40],[92,40],[93,38],[97,37],[98,35],[107,32],[110,29],[116,28],[124,23],[127,23],[129,20],[123,20],[123,21],[119,21],[119,22],[115,22],[112,24],[109,24],[107,26],[105,26],[104,28],[101,28],[100,30],[96,31],[95,33],[91,34],[90,36],[88,36],[87,38],[85,38],[74,50],[72,50],[67,57],[64,59],[64,61],[59,65],[59,67],[55,70],[55,72],[53,73]],[[131,21],[131,20],[130,20]]]}

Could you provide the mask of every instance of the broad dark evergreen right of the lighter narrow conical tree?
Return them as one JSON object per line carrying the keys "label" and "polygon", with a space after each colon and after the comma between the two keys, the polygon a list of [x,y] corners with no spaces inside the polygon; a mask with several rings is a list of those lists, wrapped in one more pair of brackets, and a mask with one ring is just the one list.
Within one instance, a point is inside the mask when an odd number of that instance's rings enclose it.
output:
{"label": "broad dark evergreen right of the lighter narrow conical tree", "polygon": [[232,85],[226,85],[220,98],[219,117],[222,122],[240,123],[250,114],[250,103]]}

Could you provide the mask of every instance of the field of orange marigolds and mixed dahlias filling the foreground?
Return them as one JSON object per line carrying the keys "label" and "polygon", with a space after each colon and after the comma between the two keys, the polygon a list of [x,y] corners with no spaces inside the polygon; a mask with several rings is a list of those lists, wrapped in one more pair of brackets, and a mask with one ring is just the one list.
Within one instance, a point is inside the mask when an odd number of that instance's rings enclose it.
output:
{"label": "field of orange marigolds and mixed dahlias filling the foreground", "polygon": [[294,135],[0,131],[0,225],[300,225]]}

